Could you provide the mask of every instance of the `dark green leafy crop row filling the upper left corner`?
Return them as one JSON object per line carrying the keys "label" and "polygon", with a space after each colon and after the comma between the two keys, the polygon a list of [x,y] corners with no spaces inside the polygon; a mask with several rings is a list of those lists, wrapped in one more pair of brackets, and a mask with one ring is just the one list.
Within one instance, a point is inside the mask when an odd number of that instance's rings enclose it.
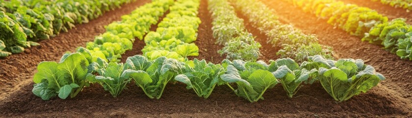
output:
{"label": "dark green leafy crop row filling the upper left corner", "polygon": [[0,0],[0,57],[67,32],[132,0]]}

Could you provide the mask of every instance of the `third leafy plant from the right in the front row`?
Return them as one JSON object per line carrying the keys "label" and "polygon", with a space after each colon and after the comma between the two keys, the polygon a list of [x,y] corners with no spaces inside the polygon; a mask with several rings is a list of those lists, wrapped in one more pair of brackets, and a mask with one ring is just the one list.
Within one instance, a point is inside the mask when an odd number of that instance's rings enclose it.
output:
{"label": "third leafy plant from the right in the front row", "polygon": [[227,85],[235,91],[236,95],[250,102],[264,99],[263,93],[279,83],[275,76],[268,71],[268,65],[263,61],[234,60],[231,62],[225,59],[222,65],[226,67],[226,71],[220,76],[221,80],[226,83],[236,83],[237,89]]}

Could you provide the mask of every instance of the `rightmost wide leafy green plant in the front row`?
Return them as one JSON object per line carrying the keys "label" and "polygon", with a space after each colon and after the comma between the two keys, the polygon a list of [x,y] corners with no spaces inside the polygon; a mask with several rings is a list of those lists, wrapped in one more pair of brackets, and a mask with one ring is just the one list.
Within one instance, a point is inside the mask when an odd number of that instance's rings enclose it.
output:
{"label": "rightmost wide leafy green plant in the front row", "polygon": [[385,80],[382,74],[360,59],[339,59],[330,69],[319,68],[322,87],[338,102],[366,92],[382,80]]}

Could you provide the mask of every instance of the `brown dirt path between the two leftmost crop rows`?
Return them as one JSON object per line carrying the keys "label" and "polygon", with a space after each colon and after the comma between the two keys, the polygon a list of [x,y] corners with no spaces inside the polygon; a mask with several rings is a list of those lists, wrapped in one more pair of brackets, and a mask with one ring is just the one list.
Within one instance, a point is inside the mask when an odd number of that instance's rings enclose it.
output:
{"label": "brown dirt path between the two leftmost crop rows", "polygon": [[105,32],[104,26],[120,16],[128,14],[150,0],[137,0],[124,4],[121,8],[103,14],[87,24],[76,25],[69,32],[62,32],[50,40],[40,41],[40,46],[26,49],[22,54],[15,54],[0,59],[0,101],[10,93],[31,83],[37,64],[41,61],[58,61],[66,51],[74,52],[79,46],[93,41],[94,36]]}

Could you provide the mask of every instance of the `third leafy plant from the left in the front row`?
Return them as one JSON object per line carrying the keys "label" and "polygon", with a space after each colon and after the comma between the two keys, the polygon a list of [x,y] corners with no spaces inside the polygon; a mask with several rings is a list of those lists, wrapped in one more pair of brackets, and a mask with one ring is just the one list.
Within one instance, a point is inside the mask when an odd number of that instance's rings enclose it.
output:
{"label": "third leafy plant from the left in the front row", "polygon": [[165,57],[149,60],[137,55],[126,60],[125,69],[121,76],[135,80],[149,98],[160,99],[167,83],[185,73],[185,63]]}

